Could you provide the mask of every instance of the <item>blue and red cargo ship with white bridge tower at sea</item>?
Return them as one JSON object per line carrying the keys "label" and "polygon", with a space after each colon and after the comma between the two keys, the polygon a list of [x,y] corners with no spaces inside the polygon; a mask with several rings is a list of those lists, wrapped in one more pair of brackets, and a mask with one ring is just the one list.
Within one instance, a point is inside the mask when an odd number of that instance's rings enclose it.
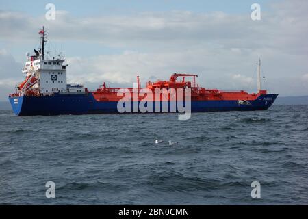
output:
{"label": "blue and red cargo ship with white bridge tower at sea", "polygon": [[[141,88],[137,76],[136,85],[131,88],[110,88],[104,82],[97,90],[89,91],[84,85],[67,83],[64,57],[47,57],[44,27],[39,34],[40,48],[34,49],[33,55],[27,53],[22,70],[25,79],[16,86],[16,92],[9,95],[12,110],[18,116],[181,112],[188,103],[191,112],[267,110],[278,96],[261,90],[261,61],[257,66],[257,92],[251,94],[244,90],[203,88],[196,84],[198,75],[187,73],[174,73],[166,81],[148,81],[145,88]],[[146,110],[134,107],[142,101]],[[183,105],[172,107],[173,103]],[[123,111],[123,107],[126,110]]]}

